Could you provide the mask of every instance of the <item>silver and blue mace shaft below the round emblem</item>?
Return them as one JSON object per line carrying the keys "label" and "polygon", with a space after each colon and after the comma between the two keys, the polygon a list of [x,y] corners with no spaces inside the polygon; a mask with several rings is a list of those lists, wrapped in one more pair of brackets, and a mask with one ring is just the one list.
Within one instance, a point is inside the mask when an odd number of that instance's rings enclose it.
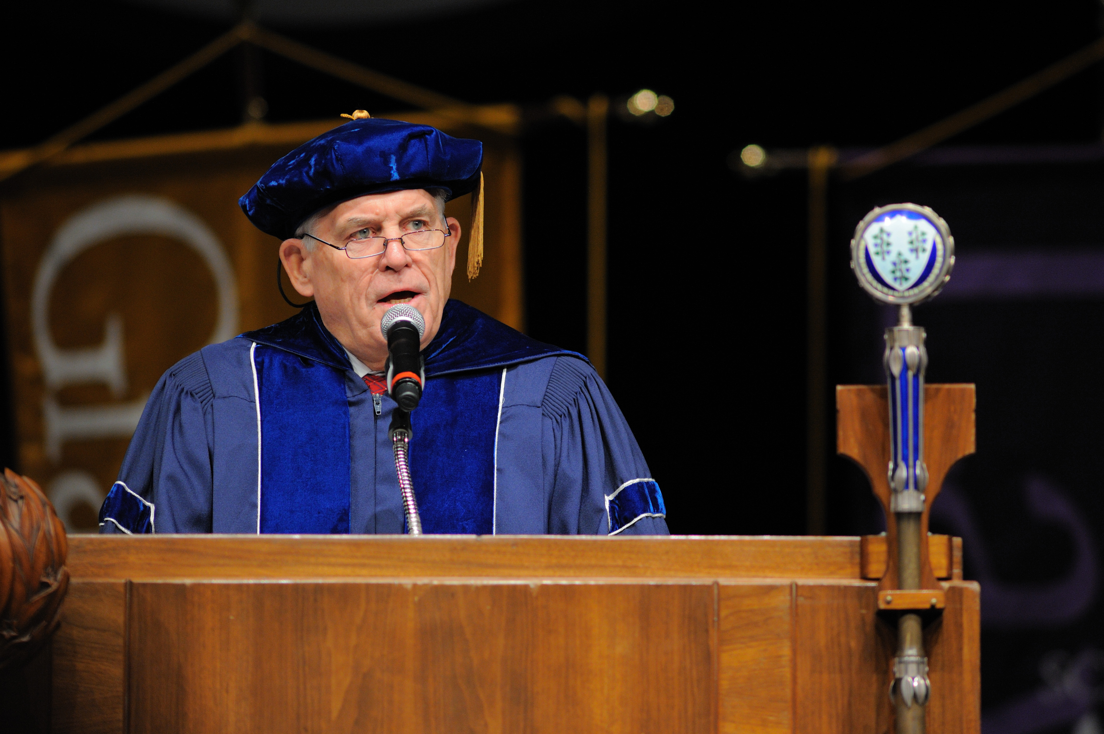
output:
{"label": "silver and blue mace shaft below the round emblem", "polygon": [[[924,512],[927,467],[924,464],[924,330],[912,325],[902,305],[898,326],[885,330],[885,376],[889,382],[892,456],[890,510],[896,518],[899,588],[921,587],[920,521]],[[898,734],[923,734],[924,706],[931,693],[924,626],[916,614],[898,620],[898,653],[893,659],[890,696],[896,710]]]}

